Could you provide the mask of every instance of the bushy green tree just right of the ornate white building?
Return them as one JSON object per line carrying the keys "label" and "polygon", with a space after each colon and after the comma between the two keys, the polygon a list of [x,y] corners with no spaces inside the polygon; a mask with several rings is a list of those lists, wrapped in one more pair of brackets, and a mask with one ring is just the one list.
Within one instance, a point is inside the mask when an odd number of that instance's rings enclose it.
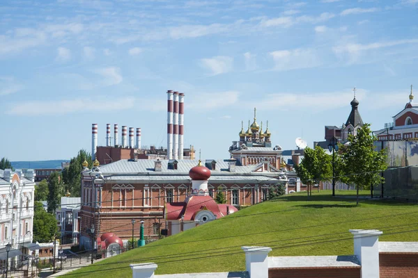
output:
{"label": "bushy green tree just right of the ornate white building", "polygon": [[55,215],[47,213],[41,202],[35,202],[33,212],[33,242],[47,243],[54,234],[58,234],[59,228]]}

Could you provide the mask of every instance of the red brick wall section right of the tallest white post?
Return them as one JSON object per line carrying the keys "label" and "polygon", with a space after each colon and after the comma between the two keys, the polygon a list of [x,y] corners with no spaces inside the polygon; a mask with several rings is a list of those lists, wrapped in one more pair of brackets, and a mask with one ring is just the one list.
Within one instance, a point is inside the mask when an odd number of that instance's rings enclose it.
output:
{"label": "red brick wall section right of the tallest white post", "polygon": [[418,277],[417,253],[380,253],[380,278]]}

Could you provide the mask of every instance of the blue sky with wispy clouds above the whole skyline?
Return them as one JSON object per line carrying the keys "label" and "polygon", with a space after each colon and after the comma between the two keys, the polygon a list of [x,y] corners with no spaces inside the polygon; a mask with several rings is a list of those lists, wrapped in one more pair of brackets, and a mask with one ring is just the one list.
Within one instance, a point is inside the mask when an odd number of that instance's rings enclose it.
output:
{"label": "blue sky with wispy clouds above the whole skyline", "polygon": [[418,87],[417,12],[417,0],[1,1],[0,156],[90,151],[92,123],[99,145],[110,123],[165,146],[167,90],[185,92],[185,146],[202,158],[227,158],[254,106],[274,145],[312,147],[346,122],[354,86],[380,129]]}

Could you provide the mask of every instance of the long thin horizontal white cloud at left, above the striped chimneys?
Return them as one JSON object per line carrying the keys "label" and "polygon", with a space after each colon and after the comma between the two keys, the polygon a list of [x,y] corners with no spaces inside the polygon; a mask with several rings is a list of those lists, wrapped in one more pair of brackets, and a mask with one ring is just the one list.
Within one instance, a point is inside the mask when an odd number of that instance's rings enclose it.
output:
{"label": "long thin horizontal white cloud at left, above the striped chimneys", "polygon": [[11,106],[6,113],[10,115],[63,115],[88,111],[104,111],[107,113],[134,107],[135,99],[133,97],[116,99],[111,97],[109,99],[111,100],[82,98],[58,101],[26,101],[19,105]]}

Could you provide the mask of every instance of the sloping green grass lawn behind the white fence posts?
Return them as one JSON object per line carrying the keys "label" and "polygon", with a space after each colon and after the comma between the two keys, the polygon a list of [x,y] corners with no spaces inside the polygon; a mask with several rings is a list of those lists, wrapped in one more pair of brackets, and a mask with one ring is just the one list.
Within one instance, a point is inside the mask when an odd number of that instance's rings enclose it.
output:
{"label": "sloping green grass lawn behind the white fence posts", "polygon": [[306,193],[272,199],[66,276],[132,277],[130,263],[157,263],[156,274],[242,271],[244,245],[272,247],[269,256],[353,254],[348,229],[380,229],[381,241],[418,241],[417,204],[361,200],[355,206],[348,198],[355,191],[336,195],[323,190],[310,200]]}

